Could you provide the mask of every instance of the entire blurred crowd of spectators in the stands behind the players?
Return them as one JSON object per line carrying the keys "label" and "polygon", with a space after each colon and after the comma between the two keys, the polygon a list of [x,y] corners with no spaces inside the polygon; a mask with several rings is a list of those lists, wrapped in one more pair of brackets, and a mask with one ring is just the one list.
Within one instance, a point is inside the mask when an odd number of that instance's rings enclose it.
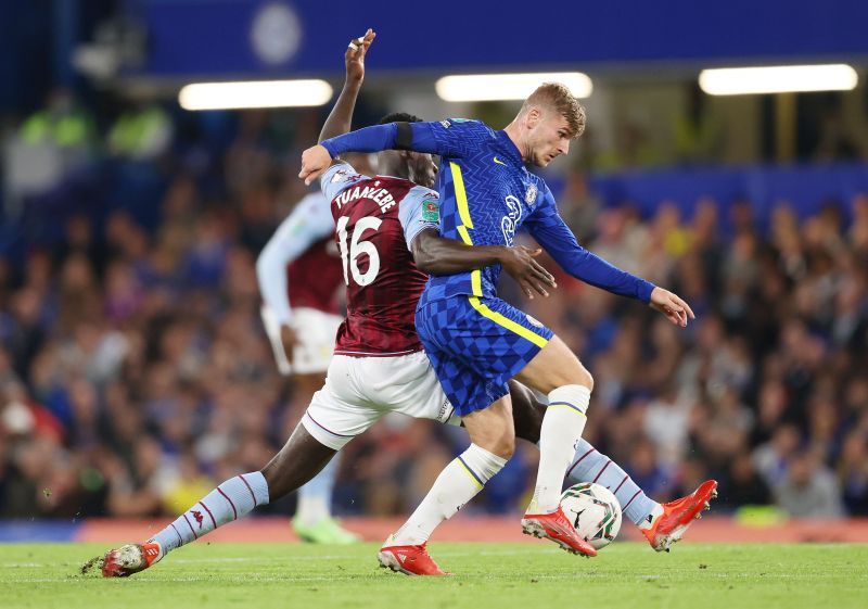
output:
{"label": "entire blurred crowd of spectators in the stands behind the players", "polygon": [[[0,517],[177,513],[261,468],[306,407],[277,373],[254,265],[304,194],[320,117],[34,120],[4,134]],[[38,175],[25,162],[48,157]],[[578,169],[559,201],[583,244],[697,314],[677,328],[550,261],[551,297],[505,284],[593,373],[586,437],[661,500],[715,477],[719,511],[868,515],[868,195],[802,219],[780,202],[767,229],[746,201],[642,218],[602,205]],[[465,444],[381,422],[345,449],[336,511],[412,509]],[[469,509],[523,507],[536,458],[520,444]]]}

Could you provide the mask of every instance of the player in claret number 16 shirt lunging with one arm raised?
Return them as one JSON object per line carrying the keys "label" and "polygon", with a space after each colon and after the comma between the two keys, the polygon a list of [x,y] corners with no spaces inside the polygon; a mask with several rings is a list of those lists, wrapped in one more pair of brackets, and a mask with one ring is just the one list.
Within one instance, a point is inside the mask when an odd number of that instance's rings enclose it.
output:
{"label": "player in claret number 16 shirt lunging with one arm raised", "polygon": [[[363,39],[352,43],[347,51],[348,72],[350,63],[361,63],[372,40],[373,33],[369,31]],[[323,136],[349,129],[358,85],[360,81],[344,88],[323,127]],[[409,115],[399,118],[413,119]],[[323,178],[323,190],[334,194],[332,212],[337,242],[345,253],[349,315],[339,340],[342,353],[334,357],[329,380],[315,396],[302,423],[261,471],[227,480],[144,544],[107,551],[102,560],[105,576],[142,571],[168,551],[248,513],[257,505],[293,492],[355,435],[388,411],[457,422],[412,328],[416,304],[426,279],[413,258],[420,268],[439,274],[501,264],[527,293],[534,290],[545,294],[545,287],[553,286],[551,276],[533,261],[534,253],[526,248],[474,248],[439,238],[437,193],[408,179],[433,182],[435,167],[429,155],[387,152],[381,154],[380,165],[385,173],[398,177],[368,179],[346,164],[335,164]],[[368,295],[363,295],[366,291]],[[536,443],[546,406],[516,382],[510,383],[510,390],[514,429],[520,437]],[[489,478],[485,474],[484,459],[484,453],[468,451],[451,464],[464,468],[463,482],[472,482],[472,495],[482,487],[481,477]],[[601,484],[616,481],[616,495],[627,497],[633,506],[625,509],[628,518],[639,524],[647,515],[653,515],[655,534],[649,536],[652,546],[667,535],[675,541],[672,537],[675,529],[686,529],[707,507],[709,497],[701,489],[665,506],[652,502],[617,464],[584,441],[575,452],[571,474],[576,481],[596,480]],[[458,486],[460,495],[464,484]],[[409,521],[416,523],[410,526],[411,534],[418,535],[422,528],[430,534],[467,500],[456,503],[452,495],[448,494],[443,503],[423,502]],[[394,543],[395,538],[392,536],[381,548],[379,559],[383,567],[408,574],[445,574],[427,555],[424,541],[399,545]]]}

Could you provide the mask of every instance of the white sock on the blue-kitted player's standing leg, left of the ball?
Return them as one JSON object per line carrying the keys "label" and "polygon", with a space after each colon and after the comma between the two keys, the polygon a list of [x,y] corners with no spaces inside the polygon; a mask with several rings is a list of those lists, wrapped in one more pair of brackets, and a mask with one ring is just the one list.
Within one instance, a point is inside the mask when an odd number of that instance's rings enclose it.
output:
{"label": "white sock on the blue-kitted player's standing leg, left of the ball", "polygon": [[434,529],[482,491],[505,465],[506,459],[471,444],[444,468],[425,498],[395,533],[392,543],[409,546],[427,542]]}

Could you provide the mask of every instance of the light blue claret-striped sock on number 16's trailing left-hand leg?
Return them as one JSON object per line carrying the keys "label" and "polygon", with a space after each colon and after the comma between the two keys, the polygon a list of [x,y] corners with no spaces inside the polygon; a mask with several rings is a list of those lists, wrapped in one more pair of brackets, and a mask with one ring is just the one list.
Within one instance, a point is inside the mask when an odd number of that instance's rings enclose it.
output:
{"label": "light blue claret-striped sock on number 16's trailing left-hand leg", "polygon": [[158,542],[166,555],[267,503],[265,477],[258,471],[242,473],[205,495],[150,541]]}

